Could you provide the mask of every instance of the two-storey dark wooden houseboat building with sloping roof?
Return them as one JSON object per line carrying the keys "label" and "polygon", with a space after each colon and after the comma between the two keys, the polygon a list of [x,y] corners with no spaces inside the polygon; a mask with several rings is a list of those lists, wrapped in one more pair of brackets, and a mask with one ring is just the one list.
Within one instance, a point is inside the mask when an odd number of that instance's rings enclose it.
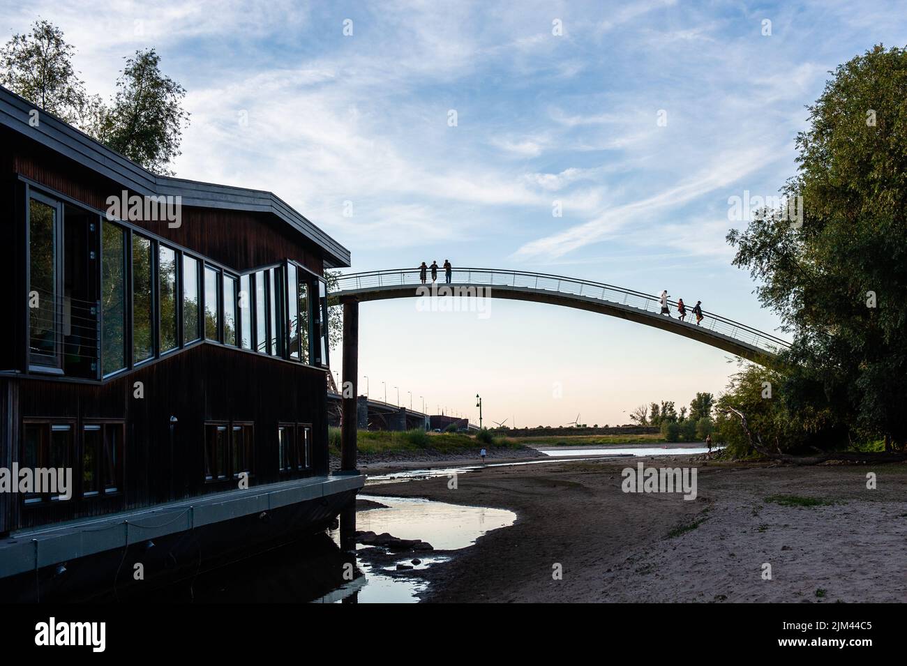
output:
{"label": "two-storey dark wooden houseboat building with sloping roof", "polygon": [[73,473],[69,498],[0,493],[0,536],[330,479],[343,246],[270,192],[155,176],[2,88],[0,183],[0,468]]}

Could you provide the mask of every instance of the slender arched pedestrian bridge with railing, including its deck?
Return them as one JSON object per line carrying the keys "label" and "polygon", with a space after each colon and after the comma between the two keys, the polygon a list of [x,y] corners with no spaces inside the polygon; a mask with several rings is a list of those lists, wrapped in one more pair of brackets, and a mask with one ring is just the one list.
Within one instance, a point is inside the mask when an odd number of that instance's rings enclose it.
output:
{"label": "slender arched pedestrian bridge with railing, including its deck", "polygon": [[444,270],[438,270],[438,280],[432,285],[428,275],[426,293],[418,268],[369,271],[340,275],[331,285],[331,302],[380,301],[388,298],[427,298],[435,294],[473,298],[506,298],[516,301],[563,305],[579,310],[643,323],[663,331],[683,335],[726,352],[735,353],[754,362],[765,362],[789,346],[771,333],[758,331],[719,314],[703,310],[701,325],[696,324],[693,305],[687,304],[687,321],[677,318],[677,303],[668,301],[671,317],[660,314],[658,296],[591,280],[561,275],[507,271],[497,268],[456,268],[450,285],[444,284]]}

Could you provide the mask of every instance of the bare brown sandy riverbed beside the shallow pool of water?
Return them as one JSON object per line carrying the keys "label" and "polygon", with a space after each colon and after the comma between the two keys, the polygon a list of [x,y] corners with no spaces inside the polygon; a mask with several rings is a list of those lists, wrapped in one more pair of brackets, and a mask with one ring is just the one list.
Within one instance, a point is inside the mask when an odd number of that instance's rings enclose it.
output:
{"label": "bare brown sandy riverbed beside the shallow pool of water", "polygon": [[[484,468],[460,475],[455,489],[442,477],[366,492],[517,513],[513,526],[481,537],[451,562],[414,572],[431,583],[428,602],[907,601],[907,465],[794,468],[690,458]],[[639,460],[697,465],[697,499],[622,492],[620,470]],[[877,474],[877,489],[866,488],[868,471]],[[766,502],[774,495],[834,504]],[[561,580],[552,577],[557,569]]]}

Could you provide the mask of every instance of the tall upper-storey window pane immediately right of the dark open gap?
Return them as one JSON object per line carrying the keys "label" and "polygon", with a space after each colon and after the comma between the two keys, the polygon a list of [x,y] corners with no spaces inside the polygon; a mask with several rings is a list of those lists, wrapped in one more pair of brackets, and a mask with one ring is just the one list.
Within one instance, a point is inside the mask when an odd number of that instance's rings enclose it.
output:
{"label": "tall upper-storey window pane immediately right of the dark open gap", "polygon": [[101,240],[102,371],[126,367],[126,231],[104,220]]}

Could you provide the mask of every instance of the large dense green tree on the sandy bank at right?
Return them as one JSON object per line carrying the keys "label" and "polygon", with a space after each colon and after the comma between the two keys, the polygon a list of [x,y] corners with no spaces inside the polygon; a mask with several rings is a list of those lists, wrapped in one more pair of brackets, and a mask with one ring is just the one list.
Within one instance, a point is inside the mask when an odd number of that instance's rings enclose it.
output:
{"label": "large dense green tree on the sandy bank at right", "polygon": [[827,413],[825,425],[845,439],[902,448],[907,51],[880,44],[838,66],[796,147],[797,173],[783,192],[802,201],[802,226],[762,215],[731,230],[734,264],[749,269],[759,300],[793,334],[782,353],[787,413]]}

